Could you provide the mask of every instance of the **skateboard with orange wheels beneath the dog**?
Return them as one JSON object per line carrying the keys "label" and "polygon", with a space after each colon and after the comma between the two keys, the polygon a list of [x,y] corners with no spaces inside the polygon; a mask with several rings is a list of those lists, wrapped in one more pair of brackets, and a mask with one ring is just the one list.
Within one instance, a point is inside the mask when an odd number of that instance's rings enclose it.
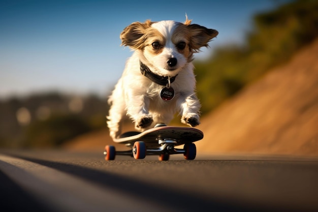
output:
{"label": "skateboard with orange wheels beneath the dog", "polygon": [[[116,151],[115,146],[105,146],[105,160],[114,160],[116,155],[128,155],[144,159],[146,155],[158,155],[160,161],[168,161],[170,155],[183,154],[184,159],[194,160],[197,155],[195,141],[203,138],[202,131],[190,127],[172,127],[157,124],[154,128],[140,132],[126,132],[114,142],[130,147],[127,151]],[[183,148],[175,148],[184,144]]]}

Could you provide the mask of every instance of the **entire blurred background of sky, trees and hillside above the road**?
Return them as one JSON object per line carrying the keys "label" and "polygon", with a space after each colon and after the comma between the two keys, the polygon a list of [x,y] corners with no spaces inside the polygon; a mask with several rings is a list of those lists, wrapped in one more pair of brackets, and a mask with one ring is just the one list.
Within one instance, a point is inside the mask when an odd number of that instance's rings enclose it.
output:
{"label": "entire blurred background of sky, trees and hillside above the road", "polygon": [[103,149],[107,96],[132,54],[122,29],[187,14],[219,32],[195,55],[198,150],[318,156],[317,11],[313,0],[1,1],[0,147]]}

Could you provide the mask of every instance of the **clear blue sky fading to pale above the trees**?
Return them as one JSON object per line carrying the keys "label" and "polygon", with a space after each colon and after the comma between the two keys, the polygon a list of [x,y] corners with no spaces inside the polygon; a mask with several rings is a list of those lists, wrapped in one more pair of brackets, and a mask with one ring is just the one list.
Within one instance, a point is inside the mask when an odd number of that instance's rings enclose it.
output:
{"label": "clear blue sky fading to pale above the trees", "polygon": [[273,0],[2,0],[0,98],[49,90],[105,95],[132,54],[119,39],[130,23],[183,22],[187,14],[193,23],[219,32],[211,48],[195,56],[204,59],[215,46],[242,42],[252,15],[275,5]]}

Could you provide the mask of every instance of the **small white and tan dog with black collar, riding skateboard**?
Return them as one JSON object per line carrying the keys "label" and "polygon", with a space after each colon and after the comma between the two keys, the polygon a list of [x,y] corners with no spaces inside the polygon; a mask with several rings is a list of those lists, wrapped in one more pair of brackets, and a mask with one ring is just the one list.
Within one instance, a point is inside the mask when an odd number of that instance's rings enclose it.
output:
{"label": "small white and tan dog with black collar, riding skateboard", "polygon": [[135,52],[108,100],[110,136],[120,135],[125,115],[139,131],[170,123],[177,111],[181,123],[199,125],[201,105],[195,93],[193,54],[217,34],[187,18],[184,23],[147,20],[124,28],[121,45]]}

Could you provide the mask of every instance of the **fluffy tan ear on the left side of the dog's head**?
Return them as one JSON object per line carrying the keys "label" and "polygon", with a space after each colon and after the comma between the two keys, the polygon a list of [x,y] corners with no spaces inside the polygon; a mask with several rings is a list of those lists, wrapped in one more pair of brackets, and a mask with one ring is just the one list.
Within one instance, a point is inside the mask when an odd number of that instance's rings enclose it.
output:
{"label": "fluffy tan ear on the left side of the dog's head", "polygon": [[144,23],[134,22],[123,29],[120,34],[121,45],[129,46],[132,49],[143,48],[146,30],[151,26],[152,22],[146,20]]}

